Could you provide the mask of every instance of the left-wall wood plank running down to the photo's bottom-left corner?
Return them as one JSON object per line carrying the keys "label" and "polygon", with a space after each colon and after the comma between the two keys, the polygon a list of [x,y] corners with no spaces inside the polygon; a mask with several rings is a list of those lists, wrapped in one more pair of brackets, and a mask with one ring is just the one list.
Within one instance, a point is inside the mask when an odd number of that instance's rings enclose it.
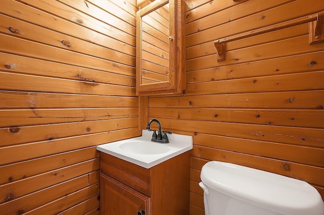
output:
{"label": "left-wall wood plank running down to the photo's bottom-left corner", "polygon": [[[0,204],[4,214],[18,214],[99,182],[99,170]],[[99,203],[98,203],[99,204]]]}

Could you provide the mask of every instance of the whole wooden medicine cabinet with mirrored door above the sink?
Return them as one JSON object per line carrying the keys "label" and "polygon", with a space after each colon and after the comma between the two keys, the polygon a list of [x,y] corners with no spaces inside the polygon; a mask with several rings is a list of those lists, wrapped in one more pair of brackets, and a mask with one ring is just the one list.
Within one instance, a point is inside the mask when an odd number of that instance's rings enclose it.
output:
{"label": "whole wooden medicine cabinet with mirrored door above the sink", "polygon": [[137,12],[137,94],[185,89],[183,0],[155,1]]}

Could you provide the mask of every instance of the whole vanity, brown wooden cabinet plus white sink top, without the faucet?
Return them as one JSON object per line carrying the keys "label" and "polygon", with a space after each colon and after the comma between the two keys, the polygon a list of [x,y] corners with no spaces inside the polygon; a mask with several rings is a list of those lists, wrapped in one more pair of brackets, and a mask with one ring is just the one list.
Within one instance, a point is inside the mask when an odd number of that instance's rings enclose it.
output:
{"label": "whole vanity, brown wooden cabinet plus white sink top, without the faucet", "polygon": [[189,214],[192,137],[171,134],[170,143],[141,137],[97,146],[100,214]]}

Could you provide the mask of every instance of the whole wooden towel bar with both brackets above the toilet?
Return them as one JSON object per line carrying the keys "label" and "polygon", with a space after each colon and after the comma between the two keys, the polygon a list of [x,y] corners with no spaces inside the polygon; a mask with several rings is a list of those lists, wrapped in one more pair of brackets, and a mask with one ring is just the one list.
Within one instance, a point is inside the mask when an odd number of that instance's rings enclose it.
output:
{"label": "whole wooden towel bar with both brackets above the toilet", "polygon": [[262,30],[251,31],[250,33],[246,33],[243,35],[234,36],[231,38],[224,38],[214,41],[214,45],[217,49],[217,61],[225,60],[225,44],[226,42],[232,42],[239,39],[248,38],[251,36],[257,36],[264,33],[269,33],[272,31],[285,29],[289,27],[293,27],[296,25],[301,25],[309,23],[309,44],[324,42],[324,11],[317,13],[316,15],[309,16],[306,19],[296,19],[296,21],[290,21],[285,24],[273,25],[271,27],[264,28]]}

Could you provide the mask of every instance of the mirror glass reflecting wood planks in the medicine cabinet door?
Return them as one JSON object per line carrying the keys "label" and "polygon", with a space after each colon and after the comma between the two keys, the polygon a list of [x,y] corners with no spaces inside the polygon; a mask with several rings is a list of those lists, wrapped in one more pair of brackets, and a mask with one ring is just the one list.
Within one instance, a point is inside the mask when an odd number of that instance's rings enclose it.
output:
{"label": "mirror glass reflecting wood planks in the medicine cabinet door", "polygon": [[169,3],[142,17],[141,85],[169,81]]}

